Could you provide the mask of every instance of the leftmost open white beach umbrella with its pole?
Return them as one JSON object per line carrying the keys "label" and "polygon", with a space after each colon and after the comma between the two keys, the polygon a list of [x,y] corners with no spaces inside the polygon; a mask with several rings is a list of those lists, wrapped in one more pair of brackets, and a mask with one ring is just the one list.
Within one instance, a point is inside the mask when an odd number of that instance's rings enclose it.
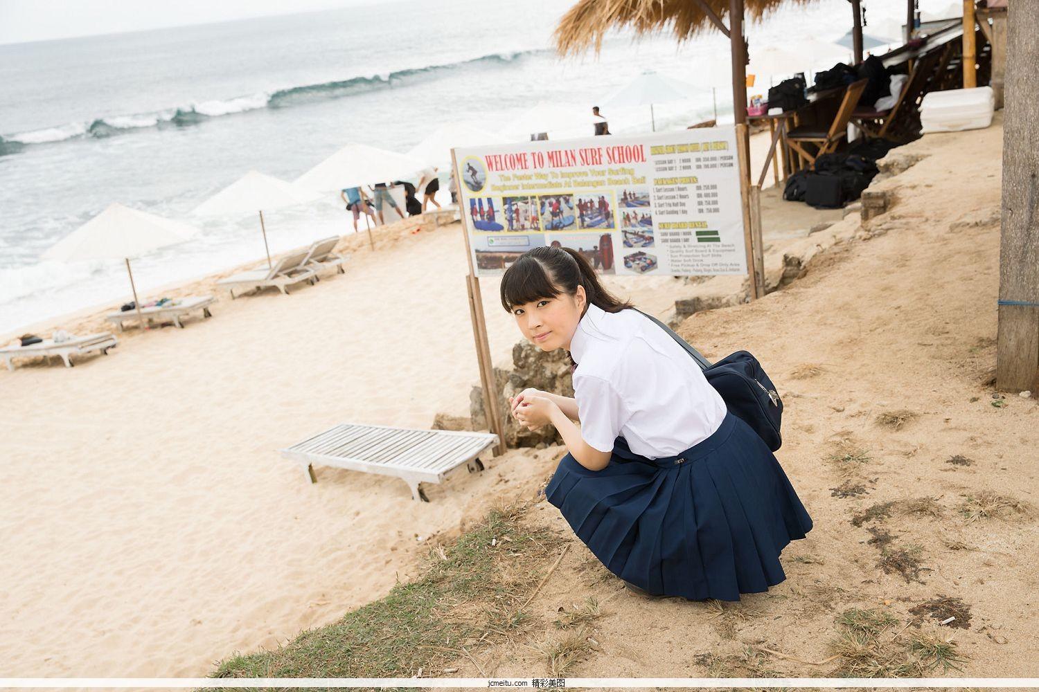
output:
{"label": "leftmost open white beach umbrella with its pole", "polygon": [[133,282],[130,258],[167,245],[183,243],[196,232],[198,229],[194,226],[113,203],[47,250],[44,259],[126,261],[133,302],[137,308],[137,319],[143,327],[144,319],[140,313],[140,301],[137,300],[137,287]]}

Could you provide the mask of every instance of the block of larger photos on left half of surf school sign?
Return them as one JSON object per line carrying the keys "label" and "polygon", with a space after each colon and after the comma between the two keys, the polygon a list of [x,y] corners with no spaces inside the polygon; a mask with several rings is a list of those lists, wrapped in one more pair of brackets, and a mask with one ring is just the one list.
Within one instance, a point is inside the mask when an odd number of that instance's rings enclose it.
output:
{"label": "block of larger photos on left half of surf school sign", "polygon": [[[476,175],[479,178],[479,170]],[[641,194],[648,199],[647,191]],[[602,274],[617,272],[614,236],[619,223],[612,191],[481,196],[467,203],[475,231],[473,250],[483,274],[504,272],[524,252],[547,245],[576,250]],[[651,238],[650,230],[650,244]]]}

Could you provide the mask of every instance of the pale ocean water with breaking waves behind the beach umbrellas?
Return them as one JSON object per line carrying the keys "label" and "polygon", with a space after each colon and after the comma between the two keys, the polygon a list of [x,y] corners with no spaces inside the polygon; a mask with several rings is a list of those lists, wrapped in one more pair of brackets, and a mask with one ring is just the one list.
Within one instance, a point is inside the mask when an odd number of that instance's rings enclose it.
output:
{"label": "pale ocean water with breaking waves behind the beach umbrellas", "polygon": [[[41,259],[113,201],[203,230],[134,260],[138,292],[148,294],[263,257],[255,218],[190,216],[250,169],[293,179],[348,142],[406,151],[448,122],[500,132],[541,101],[590,109],[645,70],[702,80],[703,65],[724,64],[728,53],[716,33],[682,46],[617,34],[597,58],[561,60],[551,33],[568,6],[396,2],[0,46],[0,333],[126,299],[118,260]],[[797,32],[836,37],[849,24],[846,0],[824,0],[751,24],[749,35],[790,47]],[[728,80],[727,72],[707,77]],[[730,112],[727,89],[717,99]],[[713,108],[710,88],[658,105],[657,130],[711,117]],[[604,113],[614,134],[649,130],[648,108]],[[590,130],[580,122],[563,134]],[[272,252],[352,232],[335,195],[265,219]]]}

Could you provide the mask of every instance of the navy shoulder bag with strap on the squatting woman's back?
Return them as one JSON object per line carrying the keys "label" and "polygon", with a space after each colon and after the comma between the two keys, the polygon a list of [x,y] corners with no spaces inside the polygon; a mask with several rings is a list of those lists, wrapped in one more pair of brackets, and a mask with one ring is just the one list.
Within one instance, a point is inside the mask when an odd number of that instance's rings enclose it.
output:
{"label": "navy shoulder bag with strap on the squatting woman's back", "polygon": [[725,408],[729,413],[750,425],[772,451],[782,445],[782,436],[779,433],[782,424],[782,400],[756,358],[747,351],[737,351],[712,365],[699,351],[675,334],[667,325],[651,314],[645,312],[642,314],[657,323],[693,357],[703,370],[703,377],[725,402]]}

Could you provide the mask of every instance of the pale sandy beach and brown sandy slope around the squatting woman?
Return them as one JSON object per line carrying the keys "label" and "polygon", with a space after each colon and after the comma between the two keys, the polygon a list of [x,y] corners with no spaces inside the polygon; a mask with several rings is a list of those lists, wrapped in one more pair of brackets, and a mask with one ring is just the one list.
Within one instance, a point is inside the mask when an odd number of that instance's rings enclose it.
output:
{"label": "pale sandy beach and brown sandy slope around the squatting woman", "polygon": [[[960,514],[983,490],[1039,503],[1036,400],[991,405],[1001,142],[997,121],[904,147],[922,161],[877,184],[896,195],[891,212],[767,238],[769,267],[790,248],[814,255],[806,274],[755,304],[681,326],[709,357],[752,351],[779,384],[778,456],[816,528],[784,554],[785,583],[735,607],[752,614],[723,616],[735,622],[727,633],[702,604],[629,597],[575,545],[534,603],[548,619],[589,593],[604,604],[600,646],[571,674],[703,674],[695,654],[724,659],[747,645],[821,660],[842,609],[904,615],[939,593],[974,612],[955,631],[966,672],[1035,674],[1035,521]],[[969,181],[957,174],[964,156]],[[461,229],[409,227],[380,230],[374,252],[364,237],[345,239],[346,273],[291,296],[223,298],[211,320],[130,330],[111,355],[73,369],[0,372],[6,675],[204,675],[234,652],[276,647],[384,596],[418,574],[430,542],[489,507],[537,501],[558,447],[511,450],[482,474],[427,488],[430,503],[412,502],[399,480],[327,468],[312,486],[277,453],[340,422],[427,427],[435,413],[468,413],[478,372]],[[170,293],[211,290],[213,278]],[[660,316],[717,287],[609,283]],[[504,361],[515,326],[498,309],[497,281],[484,279],[483,293],[491,351]],[[55,324],[96,323],[80,314]],[[894,427],[877,422],[904,411]],[[831,456],[848,445],[871,461],[837,468]],[[956,455],[969,464],[951,464]],[[937,509],[888,507],[851,523],[875,504],[921,497]],[[566,535],[553,507],[538,514]],[[878,569],[871,526],[920,546],[926,571]],[[529,674],[541,663],[528,648],[503,645],[481,659],[496,674]],[[458,665],[458,674],[477,672]],[[768,665],[825,672],[779,658]],[[734,670],[723,674],[747,672]]]}

